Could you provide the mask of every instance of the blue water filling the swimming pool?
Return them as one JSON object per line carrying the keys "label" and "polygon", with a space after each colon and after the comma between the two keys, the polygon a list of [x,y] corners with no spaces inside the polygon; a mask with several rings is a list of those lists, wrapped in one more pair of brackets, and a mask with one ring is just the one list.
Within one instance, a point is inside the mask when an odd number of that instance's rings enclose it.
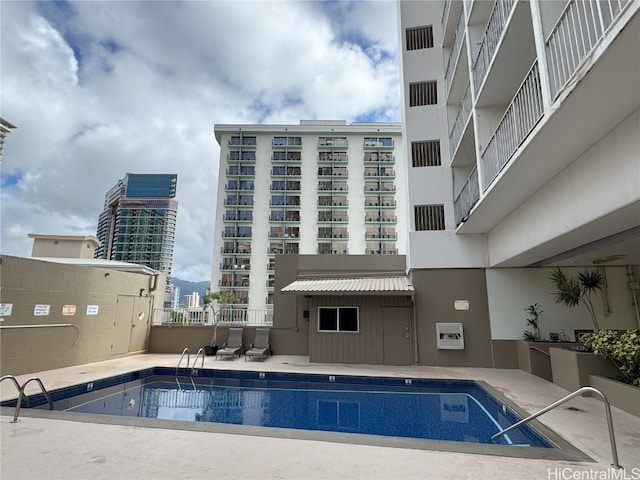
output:
{"label": "blue water filling the swimming pool", "polygon": [[[156,367],[50,392],[55,410],[417,439],[490,443],[519,418],[459,380]],[[41,397],[41,396],[40,396]],[[32,397],[31,405],[42,398]],[[44,405],[46,408],[46,405]],[[524,426],[495,443],[553,448]]]}

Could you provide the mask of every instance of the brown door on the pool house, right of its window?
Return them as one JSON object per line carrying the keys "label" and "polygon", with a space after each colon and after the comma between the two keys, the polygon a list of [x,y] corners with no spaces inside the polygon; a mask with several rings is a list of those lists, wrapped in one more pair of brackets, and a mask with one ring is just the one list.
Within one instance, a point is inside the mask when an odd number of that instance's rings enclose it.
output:
{"label": "brown door on the pool house, right of its window", "polygon": [[411,365],[411,308],[382,307],[384,365]]}

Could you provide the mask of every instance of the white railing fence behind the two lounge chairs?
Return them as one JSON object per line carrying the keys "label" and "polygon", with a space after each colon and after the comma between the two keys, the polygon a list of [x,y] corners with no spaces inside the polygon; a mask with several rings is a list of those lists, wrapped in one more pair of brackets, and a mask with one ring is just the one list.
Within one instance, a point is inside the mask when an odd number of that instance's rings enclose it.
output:
{"label": "white railing fence behind the two lounge chairs", "polygon": [[226,308],[215,313],[211,309],[156,308],[153,325],[273,325],[273,310]]}

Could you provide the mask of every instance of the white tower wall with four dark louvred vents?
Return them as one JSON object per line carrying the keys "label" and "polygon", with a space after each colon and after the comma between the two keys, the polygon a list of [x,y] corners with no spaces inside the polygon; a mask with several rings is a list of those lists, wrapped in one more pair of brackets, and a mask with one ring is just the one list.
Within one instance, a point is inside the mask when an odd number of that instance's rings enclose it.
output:
{"label": "white tower wall with four dark louvred vents", "polygon": [[[446,115],[441,19],[444,2],[400,2],[400,45],[407,28],[432,25],[434,47],[403,51],[401,59],[403,128],[409,190],[410,268],[482,268],[488,265],[484,236],[456,235],[453,211],[453,171],[450,167],[449,127]],[[438,104],[409,107],[409,83],[436,80]],[[411,142],[440,140],[442,165],[411,167]],[[446,230],[415,231],[414,205],[443,204]],[[400,230],[400,229],[398,229]]]}

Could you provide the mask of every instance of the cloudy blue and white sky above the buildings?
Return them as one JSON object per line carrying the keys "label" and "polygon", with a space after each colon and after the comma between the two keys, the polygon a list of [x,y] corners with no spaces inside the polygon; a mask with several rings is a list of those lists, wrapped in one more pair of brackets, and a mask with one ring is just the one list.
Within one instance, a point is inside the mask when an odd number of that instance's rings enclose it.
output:
{"label": "cloudy blue and white sky above the buildings", "polygon": [[127,172],[177,173],[173,274],[209,280],[214,124],[400,120],[392,0],[3,0],[0,22],[3,254],[95,235]]}

